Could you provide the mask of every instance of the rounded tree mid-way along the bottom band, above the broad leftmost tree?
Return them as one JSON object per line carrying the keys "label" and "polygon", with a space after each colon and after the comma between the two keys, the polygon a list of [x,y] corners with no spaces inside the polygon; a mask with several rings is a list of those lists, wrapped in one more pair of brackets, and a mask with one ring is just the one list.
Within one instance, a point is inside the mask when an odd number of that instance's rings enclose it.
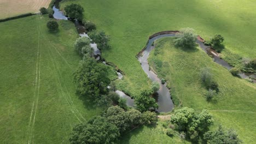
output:
{"label": "rounded tree mid-way along the bottom band, above the broad leftmost tree", "polygon": [[109,107],[104,116],[108,119],[109,123],[117,125],[120,133],[123,133],[130,127],[127,113],[119,106]]}

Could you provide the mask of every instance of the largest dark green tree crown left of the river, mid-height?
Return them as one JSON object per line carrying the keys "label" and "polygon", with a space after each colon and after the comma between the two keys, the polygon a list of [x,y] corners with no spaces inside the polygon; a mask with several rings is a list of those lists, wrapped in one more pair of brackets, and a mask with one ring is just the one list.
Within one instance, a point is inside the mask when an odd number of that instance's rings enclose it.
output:
{"label": "largest dark green tree crown left of the river, mid-height", "polygon": [[77,83],[77,92],[95,103],[108,93],[110,80],[106,65],[97,63],[94,58],[84,57],[80,61],[78,70],[74,72],[74,81]]}

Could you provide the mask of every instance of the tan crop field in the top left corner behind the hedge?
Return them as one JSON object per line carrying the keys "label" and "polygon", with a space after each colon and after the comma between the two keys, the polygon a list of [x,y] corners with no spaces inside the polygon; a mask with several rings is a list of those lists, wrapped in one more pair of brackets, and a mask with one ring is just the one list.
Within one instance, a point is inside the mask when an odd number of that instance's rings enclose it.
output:
{"label": "tan crop field in the top left corner behind the hedge", "polygon": [[0,0],[0,19],[25,13],[36,13],[48,8],[51,0]]}

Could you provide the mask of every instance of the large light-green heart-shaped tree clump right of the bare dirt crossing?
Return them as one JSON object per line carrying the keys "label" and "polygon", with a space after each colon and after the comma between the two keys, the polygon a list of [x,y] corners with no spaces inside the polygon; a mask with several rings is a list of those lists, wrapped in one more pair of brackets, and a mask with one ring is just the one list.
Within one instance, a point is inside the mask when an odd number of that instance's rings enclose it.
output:
{"label": "large light-green heart-shaped tree clump right of the bare dirt crossing", "polygon": [[185,131],[191,140],[198,141],[199,134],[208,130],[213,124],[213,119],[207,110],[202,110],[196,115],[193,109],[183,107],[174,112],[171,122],[177,125],[179,131]]}

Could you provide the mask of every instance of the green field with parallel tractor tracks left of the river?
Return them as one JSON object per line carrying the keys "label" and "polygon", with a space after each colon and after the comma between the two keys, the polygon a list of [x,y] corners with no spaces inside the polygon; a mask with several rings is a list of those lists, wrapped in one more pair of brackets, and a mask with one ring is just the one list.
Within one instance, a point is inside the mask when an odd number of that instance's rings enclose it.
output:
{"label": "green field with parallel tractor tracks left of the river", "polygon": [[34,143],[67,143],[79,119],[102,111],[75,95],[72,73],[80,58],[73,50],[73,23],[58,21],[60,31],[49,33],[47,21],[30,16],[0,23],[2,143],[28,143],[29,137]]}

